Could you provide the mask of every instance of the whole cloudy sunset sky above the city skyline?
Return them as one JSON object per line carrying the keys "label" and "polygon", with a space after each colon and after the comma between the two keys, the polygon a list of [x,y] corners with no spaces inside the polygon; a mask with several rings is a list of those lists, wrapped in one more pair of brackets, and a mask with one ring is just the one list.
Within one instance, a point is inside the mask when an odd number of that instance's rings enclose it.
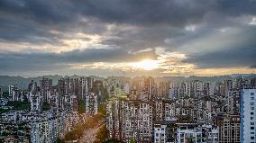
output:
{"label": "whole cloudy sunset sky above the city skyline", "polygon": [[0,75],[256,73],[256,0],[0,0]]}

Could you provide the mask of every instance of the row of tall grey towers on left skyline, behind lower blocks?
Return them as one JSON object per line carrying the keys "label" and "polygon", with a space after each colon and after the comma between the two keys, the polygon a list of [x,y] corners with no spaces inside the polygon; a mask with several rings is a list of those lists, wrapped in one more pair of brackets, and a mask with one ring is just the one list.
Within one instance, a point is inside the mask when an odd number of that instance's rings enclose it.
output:
{"label": "row of tall grey towers on left skyline, behind lower blocks", "polygon": [[19,90],[18,85],[9,85],[12,101],[28,100],[31,112],[42,112],[43,103],[54,111],[70,109],[76,112],[78,100],[87,104],[87,112],[96,112],[98,94],[92,92],[94,79],[90,77],[60,78],[58,85],[52,85],[52,79],[43,77],[40,84],[32,81],[28,90]]}

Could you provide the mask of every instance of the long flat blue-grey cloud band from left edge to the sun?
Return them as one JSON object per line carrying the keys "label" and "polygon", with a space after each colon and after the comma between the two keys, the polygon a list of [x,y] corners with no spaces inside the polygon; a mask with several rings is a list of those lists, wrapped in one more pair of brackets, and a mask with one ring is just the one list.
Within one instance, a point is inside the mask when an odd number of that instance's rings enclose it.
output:
{"label": "long flat blue-grey cloud band from left edge to the sun", "polygon": [[0,71],[37,71],[69,68],[69,64],[88,62],[132,62],[143,58],[157,58],[152,51],[128,53],[123,49],[84,49],[57,53],[0,54]]}

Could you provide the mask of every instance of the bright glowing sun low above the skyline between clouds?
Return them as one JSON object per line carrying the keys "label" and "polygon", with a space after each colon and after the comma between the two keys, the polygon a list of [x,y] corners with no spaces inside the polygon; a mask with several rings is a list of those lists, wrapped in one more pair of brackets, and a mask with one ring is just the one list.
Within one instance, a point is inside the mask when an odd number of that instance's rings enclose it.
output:
{"label": "bright glowing sun low above the skyline between clouds", "polygon": [[140,62],[135,62],[132,64],[134,68],[141,68],[144,70],[153,70],[159,68],[158,60],[144,59]]}

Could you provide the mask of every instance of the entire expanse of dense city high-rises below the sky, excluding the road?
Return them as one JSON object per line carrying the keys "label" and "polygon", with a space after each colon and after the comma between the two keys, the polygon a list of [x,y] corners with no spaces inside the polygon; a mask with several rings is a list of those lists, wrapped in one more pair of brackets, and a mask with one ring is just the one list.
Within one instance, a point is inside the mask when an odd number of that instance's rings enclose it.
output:
{"label": "entire expanse of dense city high-rises below the sky, excluding the road", "polygon": [[[0,132],[7,142],[61,139],[84,120],[78,114],[78,102],[85,106],[86,115],[92,115],[97,114],[99,101],[105,99],[109,139],[138,143],[256,142],[255,78],[183,81],[109,76],[94,80],[81,76],[59,78],[53,85],[44,77],[38,83],[32,81],[27,90],[9,85],[8,92],[7,101],[1,96],[0,102],[1,110],[10,110],[0,115]],[[29,109],[12,110],[9,101],[29,103]]]}

